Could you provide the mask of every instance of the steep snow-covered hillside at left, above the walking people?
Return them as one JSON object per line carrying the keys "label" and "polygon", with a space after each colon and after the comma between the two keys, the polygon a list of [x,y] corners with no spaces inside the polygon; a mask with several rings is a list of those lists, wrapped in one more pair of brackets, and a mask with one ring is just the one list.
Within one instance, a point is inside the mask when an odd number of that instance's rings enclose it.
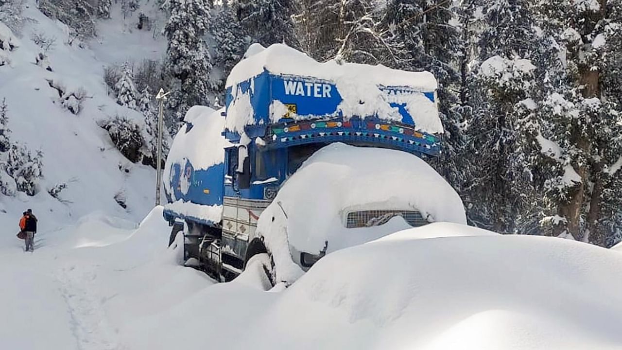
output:
{"label": "steep snow-covered hillside at left, above the walking people", "polygon": [[[40,230],[45,231],[94,211],[137,222],[153,206],[154,169],[124,158],[97,122],[118,115],[143,125],[141,113],[117,105],[108,96],[103,68],[124,60],[161,57],[165,40],[159,36],[154,40],[152,32],[137,31],[137,14],[123,20],[120,6],[113,6],[112,11],[112,19],[99,22],[95,39],[70,45],[67,26],[44,16],[35,1],[29,0],[16,47],[0,50],[8,61],[0,66],[0,101],[6,98],[9,137],[33,152],[43,151],[39,193],[1,197],[6,213],[0,213],[0,222],[5,227],[17,227],[27,207],[34,209]],[[0,26],[2,34],[11,35]],[[39,65],[36,57],[42,49],[33,40],[37,37],[55,39]],[[76,114],[75,97],[80,95],[83,102]],[[58,195],[59,201],[47,191],[61,183],[67,188]],[[119,206],[115,197],[127,208]]]}

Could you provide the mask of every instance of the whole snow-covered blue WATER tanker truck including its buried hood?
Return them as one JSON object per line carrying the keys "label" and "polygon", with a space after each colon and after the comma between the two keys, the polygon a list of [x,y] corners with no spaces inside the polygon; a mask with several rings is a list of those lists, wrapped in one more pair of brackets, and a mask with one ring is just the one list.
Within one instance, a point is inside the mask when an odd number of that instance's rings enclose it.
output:
{"label": "whole snow-covered blue WATER tanker truck including its buried hood", "polygon": [[340,248],[434,221],[464,224],[460,197],[421,158],[440,153],[429,72],[252,45],[226,107],[192,107],[165,165],[170,242],[229,281],[260,260],[291,283]]}

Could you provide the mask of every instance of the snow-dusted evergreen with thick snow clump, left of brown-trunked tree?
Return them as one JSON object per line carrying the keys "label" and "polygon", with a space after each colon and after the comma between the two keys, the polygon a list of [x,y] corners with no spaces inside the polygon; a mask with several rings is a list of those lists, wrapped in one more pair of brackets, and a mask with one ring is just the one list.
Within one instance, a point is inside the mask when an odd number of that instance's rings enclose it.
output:
{"label": "snow-dusted evergreen with thick snow clump, left of brown-trunked tree", "polygon": [[528,230],[535,210],[526,150],[516,130],[519,102],[531,97],[539,67],[534,53],[546,50],[526,0],[485,2],[477,74],[469,84],[473,115],[468,122],[470,184],[463,196],[474,224],[501,233]]}

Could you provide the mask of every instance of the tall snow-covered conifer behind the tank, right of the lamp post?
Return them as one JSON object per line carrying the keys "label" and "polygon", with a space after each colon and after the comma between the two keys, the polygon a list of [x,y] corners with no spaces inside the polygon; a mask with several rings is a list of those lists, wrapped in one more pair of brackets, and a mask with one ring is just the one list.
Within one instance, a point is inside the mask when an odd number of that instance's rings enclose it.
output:
{"label": "tall snow-covered conifer behind the tank, right of the lamp post", "polygon": [[172,75],[179,86],[169,98],[181,120],[190,106],[209,105],[211,57],[203,36],[210,24],[210,4],[207,0],[170,0],[169,21],[164,34],[169,40],[167,59]]}

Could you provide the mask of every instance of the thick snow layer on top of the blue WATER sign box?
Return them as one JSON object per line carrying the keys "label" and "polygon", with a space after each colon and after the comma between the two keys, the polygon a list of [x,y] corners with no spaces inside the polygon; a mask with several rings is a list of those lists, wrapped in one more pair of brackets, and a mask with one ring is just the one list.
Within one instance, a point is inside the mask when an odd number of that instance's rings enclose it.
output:
{"label": "thick snow layer on top of the blue WATER sign box", "polygon": [[264,70],[277,75],[300,75],[330,81],[348,79],[375,85],[411,87],[426,92],[438,88],[437,80],[430,72],[408,72],[384,65],[340,63],[334,59],[320,63],[285,44],[273,44],[267,48],[260,44],[251,45],[244,59],[231,70],[226,87],[253,78]]}

